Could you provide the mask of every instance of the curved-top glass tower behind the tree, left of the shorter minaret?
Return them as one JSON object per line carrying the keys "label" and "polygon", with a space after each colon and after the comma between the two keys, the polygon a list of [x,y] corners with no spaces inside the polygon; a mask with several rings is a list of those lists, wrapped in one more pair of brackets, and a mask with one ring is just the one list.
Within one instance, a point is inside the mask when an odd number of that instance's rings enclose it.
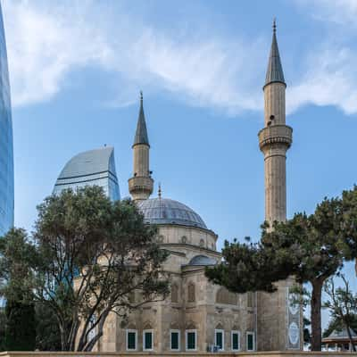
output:
{"label": "curved-top glass tower behind the tree, left of the shorter minaret", "polygon": [[115,170],[114,148],[102,147],[73,156],[61,171],[54,185],[54,194],[63,189],[86,186],[103,187],[112,201],[120,200],[120,189]]}

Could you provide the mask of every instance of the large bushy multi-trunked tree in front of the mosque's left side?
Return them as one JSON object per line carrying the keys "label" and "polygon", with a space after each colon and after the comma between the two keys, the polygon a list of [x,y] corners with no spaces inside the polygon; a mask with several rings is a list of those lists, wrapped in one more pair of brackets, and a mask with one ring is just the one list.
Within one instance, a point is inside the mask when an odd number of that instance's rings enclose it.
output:
{"label": "large bushy multi-trunked tree in front of the mosque's left side", "polygon": [[125,318],[168,293],[167,253],[134,203],[112,203],[101,187],[85,187],[49,196],[37,209],[34,295],[54,312],[63,351],[91,351],[109,313]]}

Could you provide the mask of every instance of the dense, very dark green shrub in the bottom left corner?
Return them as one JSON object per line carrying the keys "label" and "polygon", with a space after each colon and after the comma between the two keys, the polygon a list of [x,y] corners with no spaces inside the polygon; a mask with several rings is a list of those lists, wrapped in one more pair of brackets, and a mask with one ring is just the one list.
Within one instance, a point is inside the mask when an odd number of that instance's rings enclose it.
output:
{"label": "dense, very dark green shrub in the bottom left corner", "polygon": [[7,351],[33,351],[36,343],[33,303],[7,301],[4,346]]}

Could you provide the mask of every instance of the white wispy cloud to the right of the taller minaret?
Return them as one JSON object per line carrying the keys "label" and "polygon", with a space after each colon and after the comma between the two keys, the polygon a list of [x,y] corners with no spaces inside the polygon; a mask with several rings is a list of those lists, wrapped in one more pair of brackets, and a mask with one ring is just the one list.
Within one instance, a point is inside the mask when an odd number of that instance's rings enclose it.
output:
{"label": "white wispy cloud to the right of the taller minaret", "polygon": [[307,16],[323,25],[323,38],[304,55],[303,74],[289,90],[288,110],[306,104],[334,105],[357,113],[356,0],[295,0]]}

